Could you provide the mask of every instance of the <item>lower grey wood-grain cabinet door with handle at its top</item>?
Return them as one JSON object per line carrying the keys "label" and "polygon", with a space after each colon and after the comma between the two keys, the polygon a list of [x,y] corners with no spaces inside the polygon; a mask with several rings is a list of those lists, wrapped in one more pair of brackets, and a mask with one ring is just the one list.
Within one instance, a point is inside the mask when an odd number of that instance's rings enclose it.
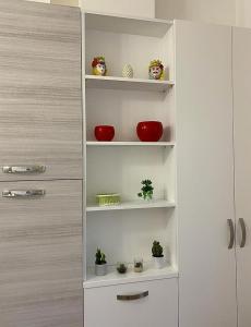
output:
{"label": "lower grey wood-grain cabinet door with handle at its top", "polygon": [[81,194],[81,181],[0,183],[1,327],[82,327]]}

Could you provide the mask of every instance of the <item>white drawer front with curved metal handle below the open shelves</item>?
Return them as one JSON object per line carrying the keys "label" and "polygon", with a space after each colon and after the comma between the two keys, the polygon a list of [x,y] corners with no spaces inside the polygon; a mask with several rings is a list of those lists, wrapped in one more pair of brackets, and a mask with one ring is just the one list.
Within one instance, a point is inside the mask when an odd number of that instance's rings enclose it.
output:
{"label": "white drawer front with curved metal handle below the open shelves", "polygon": [[[135,295],[118,300],[118,295]],[[85,327],[177,327],[176,278],[84,290]]]}

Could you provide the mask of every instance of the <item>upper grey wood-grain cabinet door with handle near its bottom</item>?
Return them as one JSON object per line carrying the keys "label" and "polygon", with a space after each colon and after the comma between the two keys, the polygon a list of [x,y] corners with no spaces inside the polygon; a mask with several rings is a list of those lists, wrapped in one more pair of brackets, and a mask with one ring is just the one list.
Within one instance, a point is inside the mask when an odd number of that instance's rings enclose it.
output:
{"label": "upper grey wood-grain cabinet door with handle near its bottom", "polygon": [[0,0],[0,180],[82,178],[80,10]]}

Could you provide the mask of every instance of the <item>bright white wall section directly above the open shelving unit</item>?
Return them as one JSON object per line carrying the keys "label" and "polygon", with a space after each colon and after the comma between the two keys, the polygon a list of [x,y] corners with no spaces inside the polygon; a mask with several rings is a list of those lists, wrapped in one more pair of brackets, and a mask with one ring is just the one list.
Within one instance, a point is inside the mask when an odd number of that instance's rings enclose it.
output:
{"label": "bright white wall section directly above the open shelving unit", "polygon": [[154,17],[155,0],[81,0],[85,10]]}

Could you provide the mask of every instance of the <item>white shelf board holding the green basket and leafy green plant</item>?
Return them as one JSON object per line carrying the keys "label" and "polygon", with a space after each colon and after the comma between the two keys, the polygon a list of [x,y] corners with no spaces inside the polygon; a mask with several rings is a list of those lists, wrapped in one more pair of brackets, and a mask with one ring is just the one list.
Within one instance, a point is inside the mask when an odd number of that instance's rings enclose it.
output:
{"label": "white shelf board holding the green basket and leafy green plant", "polygon": [[116,206],[98,206],[87,205],[86,211],[109,211],[109,210],[130,210],[130,209],[152,209],[152,208],[175,208],[174,202],[168,202],[166,199],[156,199],[156,201],[132,201],[132,202],[122,202]]}

